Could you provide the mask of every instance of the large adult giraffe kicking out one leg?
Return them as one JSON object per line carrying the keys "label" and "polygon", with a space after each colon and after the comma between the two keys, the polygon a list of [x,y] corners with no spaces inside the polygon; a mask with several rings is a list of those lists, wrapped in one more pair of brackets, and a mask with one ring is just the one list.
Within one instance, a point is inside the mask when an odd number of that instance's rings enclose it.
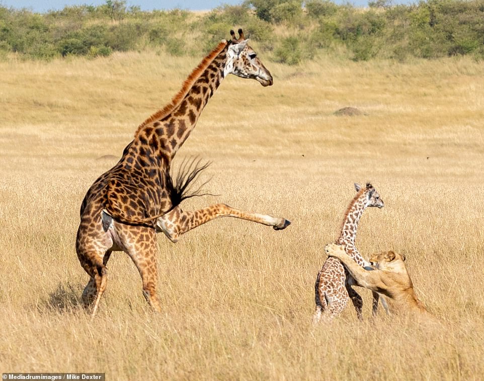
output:
{"label": "large adult giraffe kicking out one leg", "polygon": [[174,184],[170,164],[194,129],[198,117],[222,79],[228,74],[252,78],[263,86],[272,76],[247,44],[241,29],[239,38],[222,40],[190,74],[182,89],[165,108],[138,127],[119,162],[101,175],[88,190],[80,207],[76,252],[81,266],[91,276],[83,302],[94,301],[92,316],[106,288],[106,264],[112,251],[125,251],[136,265],[149,305],[160,311],[156,295],[156,231],[172,241],[180,234],[217,217],[237,217],[284,229],[284,218],[245,213],[223,204],[195,212],[183,212],[179,204],[187,197],[187,185],[204,167],[179,177]]}

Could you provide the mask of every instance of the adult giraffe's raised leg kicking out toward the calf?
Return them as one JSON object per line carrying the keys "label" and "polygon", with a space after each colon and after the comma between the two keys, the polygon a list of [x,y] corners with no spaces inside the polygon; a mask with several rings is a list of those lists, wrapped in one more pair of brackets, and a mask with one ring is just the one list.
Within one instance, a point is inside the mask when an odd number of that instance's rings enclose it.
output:
{"label": "adult giraffe's raised leg kicking out toward the calf", "polygon": [[244,212],[225,204],[214,204],[207,208],[191,212],[184,212],[179,206],[177,206],[169,213],[159,217],[156,221],[156,226],[159,229],[158,231],[163,231],[172,242],[177,242],[180,235],[220,217],[234,217],[257,222],[263,225],[272,226],[274,230],[285,229],[291,224],[291,222],[285,218]]}

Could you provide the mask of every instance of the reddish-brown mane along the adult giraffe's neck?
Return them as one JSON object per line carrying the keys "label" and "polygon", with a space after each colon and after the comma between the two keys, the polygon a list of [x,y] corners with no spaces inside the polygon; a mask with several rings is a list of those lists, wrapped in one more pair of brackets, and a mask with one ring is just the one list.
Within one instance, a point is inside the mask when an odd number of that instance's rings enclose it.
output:
{"label": "reddish-brown mane along the adult giraffe's neck", "polygon": [[[229,42],[230,43],[230,42]],[[163,119],[167,116],[170,112],[172,112],[185,98],[188,91],[192,88],[193,84],[198,80],[200,75],[208,68],[210,63],[215,59],[215,57],[227,46],[227,41],[222,40],[216,47],[213,49],[208,55],[202,59],[202,61],[198,64],[198,66],[193,70],[193,72],[187,77],[184,81],[182,88],[180,91],[173,97],[172,101],[167,104],[162,109],[156,111],[150,117],[148,117],[145,121],[143,121],[136,130],[135,136],[138,132],[146,125],[159,120]]]}

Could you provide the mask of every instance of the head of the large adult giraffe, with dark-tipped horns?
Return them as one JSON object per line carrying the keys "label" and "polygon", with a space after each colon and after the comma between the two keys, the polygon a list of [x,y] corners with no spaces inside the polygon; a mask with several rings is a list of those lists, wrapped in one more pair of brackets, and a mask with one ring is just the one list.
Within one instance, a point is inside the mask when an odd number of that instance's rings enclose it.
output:
{"label": "head of the large adult giraffe, with dark-tipped horns", "polygon": [[238,38],[235,38],[233,30],[230,31],[230,35],[232,39],[228,43],[224,76],[233,74],[240,78],[252,78],[262,86],[271,86],[273,84],[271,73],[257,57],[257,53],[247,44],[249,39],[244,37],[242,29],[238,30]]}

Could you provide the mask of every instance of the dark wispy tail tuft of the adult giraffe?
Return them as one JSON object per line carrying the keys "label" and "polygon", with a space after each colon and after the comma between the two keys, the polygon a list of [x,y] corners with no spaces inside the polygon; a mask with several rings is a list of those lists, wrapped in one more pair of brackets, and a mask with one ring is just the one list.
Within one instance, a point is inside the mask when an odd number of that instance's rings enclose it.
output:
{"label": "dark wispy tail tuft of the adult giraffe", "polygon": [[192,190],[192,183],[198,178],[201,171],[207,168],[211,162],[207,161],[205,164],[201,164],[202,159],[194,157],[193,159],[183,159],[180,168],[178,169],[178,175],[176,182],[173,182],[170,168],[166,172],[167,189],[170,193],[170,200],[172,201],[172,208],[180,205],[183,200],[189,199],[195,196],[215,196],[211,193],[201,193],[203,186],[205,186],[210,179],[201,184],[196,190]]}

